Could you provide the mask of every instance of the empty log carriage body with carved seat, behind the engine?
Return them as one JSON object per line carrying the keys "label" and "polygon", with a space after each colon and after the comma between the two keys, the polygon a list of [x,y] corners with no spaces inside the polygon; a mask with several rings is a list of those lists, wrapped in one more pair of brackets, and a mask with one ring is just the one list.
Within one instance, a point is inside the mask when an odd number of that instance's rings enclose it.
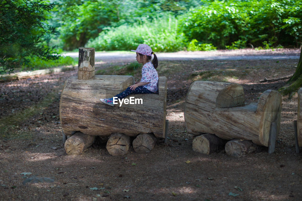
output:
{"label": "empty log carriage body with carved seat, behind the engine", "polygon": [[245,105],[239,84],[195,81],[187,94],[184,115],[187,131],[193,135],[211,133],[268,146],[271,122],[277,123],[277,135],[280,128],[281,94],[267,90],[258,104]]}

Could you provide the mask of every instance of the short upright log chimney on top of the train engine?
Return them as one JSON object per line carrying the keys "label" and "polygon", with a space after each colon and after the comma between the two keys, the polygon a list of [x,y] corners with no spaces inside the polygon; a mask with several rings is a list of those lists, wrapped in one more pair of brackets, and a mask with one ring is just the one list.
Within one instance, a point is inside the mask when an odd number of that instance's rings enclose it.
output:
{"label": "short upright log chimney on top of the train engine", "polygon": [[95,49],[79,48],[78,79],[88,80],[95,75]]}

